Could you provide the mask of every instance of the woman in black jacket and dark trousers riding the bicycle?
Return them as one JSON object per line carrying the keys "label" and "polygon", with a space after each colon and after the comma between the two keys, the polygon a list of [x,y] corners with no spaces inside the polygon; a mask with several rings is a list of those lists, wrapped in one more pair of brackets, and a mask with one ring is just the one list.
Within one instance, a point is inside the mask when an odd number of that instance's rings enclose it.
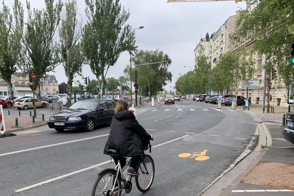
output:
{"label": "woman in black jacket and dark trousers riding the bicycle", "polygon": [[[118,100],[115,108],[115,114],[110,125],[110,133],[104,147],[104,154],[108,154],[109,149],[115,149],[119,152],[119,160],[122,168],[125,166],[126,158],[132,157],[130,168],[127,170],[127,175],[139,175],[135,168],[144,155],[142,138],[153,139],[151,134],[148,134],[142,125],[138,123],[136,117],[131,113],[128,107],[127,100]],[[117,160],[115,160],[116,164]]]}

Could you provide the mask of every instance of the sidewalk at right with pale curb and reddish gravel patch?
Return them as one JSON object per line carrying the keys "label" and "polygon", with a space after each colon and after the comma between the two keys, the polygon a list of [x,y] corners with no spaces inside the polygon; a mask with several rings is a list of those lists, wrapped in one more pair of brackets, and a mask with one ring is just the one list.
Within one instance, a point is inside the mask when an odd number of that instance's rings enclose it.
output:
{"label": "sidewalk at right with pale curb and reddish gravel patch", "polygon": [[274,106],[263,113],[262,105],[243,110],[257,124],[259,144],[232,170],[221,176],[203,196],[294,196],[294,145],[282,137],[282,118],[288,107]]}

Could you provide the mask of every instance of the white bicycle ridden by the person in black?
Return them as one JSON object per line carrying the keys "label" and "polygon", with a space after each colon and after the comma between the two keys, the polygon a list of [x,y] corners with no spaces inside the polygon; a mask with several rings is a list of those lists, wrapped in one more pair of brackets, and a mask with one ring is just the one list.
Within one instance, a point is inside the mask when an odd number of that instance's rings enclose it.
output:
{"label": "white bicycle ridden by the person in black", "polygon": [[[148,148],[151,152],[150,142]],[[126,178],[123,176],[123,171],[130,164],[132,158],[127,159],[122,169],[121,163],[117,159],[119,157],[118,151],[109,149],[108,153],[114,160],[117,160],[118,164],[114,169],[107,168],[98,173],[91,196],[121,196],[123,190],[124,194],[130,193],[132,190],[132,176],[127,175]],[[140,192],[145,193],[150,189],[154,180],[155,168],[152,157],[148,154],[143,155],[138,162],[136,171],[139,172],[139,176],[135,177],[136,186]]]}

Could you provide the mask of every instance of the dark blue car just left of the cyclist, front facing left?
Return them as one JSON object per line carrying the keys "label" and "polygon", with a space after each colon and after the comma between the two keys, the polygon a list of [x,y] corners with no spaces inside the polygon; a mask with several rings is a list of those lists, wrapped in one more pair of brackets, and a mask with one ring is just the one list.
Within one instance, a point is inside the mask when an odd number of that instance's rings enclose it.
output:
{"label": "dark blue car just left of the cyclist, front facing left", "polygon": [[93,131],[98,124],[111,123],[116,103],[112,99],[79,100],[68,109],[49,117],[49,128],[56,131],[83,128]]}

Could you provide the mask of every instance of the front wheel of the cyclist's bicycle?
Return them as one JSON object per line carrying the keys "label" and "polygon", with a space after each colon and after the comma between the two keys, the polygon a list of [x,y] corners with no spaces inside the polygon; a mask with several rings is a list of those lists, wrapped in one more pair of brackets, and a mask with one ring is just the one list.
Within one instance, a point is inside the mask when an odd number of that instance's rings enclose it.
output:
{"label": "front wheel of the cyclist's bicycle", "polygon": [[139,176],[135,178],[136,186],[139,191],[145,193],[152,185],[154,179],[154,161],[150,155],[145,155],[144,162],[142,159],[139,161],[136,171],[139,172]]}

